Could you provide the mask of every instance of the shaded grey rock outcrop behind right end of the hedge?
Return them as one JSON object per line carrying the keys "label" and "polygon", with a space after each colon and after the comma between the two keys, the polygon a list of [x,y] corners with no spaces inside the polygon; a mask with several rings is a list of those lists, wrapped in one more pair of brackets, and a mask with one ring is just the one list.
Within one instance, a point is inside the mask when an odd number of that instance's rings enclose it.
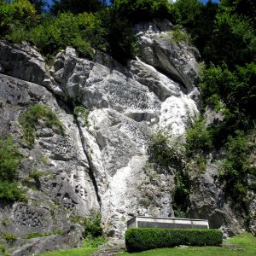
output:
{"label": "shaded grey rock outcrop behind right end of the hedge", "polygon": [[189,218],[207,218],[210,228],[223,230],[225,236],[242,230],[242,220],[226,201],[224,186],[218,181],[217,164],[208,164],[206,173],[194,178],[193,188]]}

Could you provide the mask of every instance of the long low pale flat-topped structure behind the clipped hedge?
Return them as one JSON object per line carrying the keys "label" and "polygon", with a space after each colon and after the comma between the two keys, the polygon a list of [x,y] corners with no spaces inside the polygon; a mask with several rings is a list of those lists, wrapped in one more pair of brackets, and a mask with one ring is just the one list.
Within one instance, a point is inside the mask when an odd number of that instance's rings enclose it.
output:
{"label": "long low pale flat-topped structure behind the clipped hedge", "polygon": [[207,219],[137,216],[127,221],[127,228],[209,229],[209,224]]}

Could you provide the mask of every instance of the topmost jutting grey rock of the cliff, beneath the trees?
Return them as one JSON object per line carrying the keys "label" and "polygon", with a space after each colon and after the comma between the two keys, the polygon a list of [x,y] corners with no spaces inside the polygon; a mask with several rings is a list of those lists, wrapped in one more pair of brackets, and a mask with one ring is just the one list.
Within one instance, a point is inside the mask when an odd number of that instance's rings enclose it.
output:
{"label": "topmost jutting grey rock of the cliff, beneath the trees", "polygon": [[198,51],[183,42],[177,44],[168,38],[172,29],[169,20],[143,22],[135,26],[143,61],[177,79],[188,92],[194,90],[198,80]]}

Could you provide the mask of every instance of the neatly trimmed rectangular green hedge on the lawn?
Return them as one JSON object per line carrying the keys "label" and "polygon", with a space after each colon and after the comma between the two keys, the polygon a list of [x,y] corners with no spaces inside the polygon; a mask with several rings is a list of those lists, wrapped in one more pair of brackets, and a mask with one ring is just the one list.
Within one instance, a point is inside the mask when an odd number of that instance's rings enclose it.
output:
{"label": "neatly trimmed rectangular green hedge on the lawn", "polygon": [[154,248],[188,246],[220,246],[220,230],[131,229],[125,232],[128,252],[142,252]]}

